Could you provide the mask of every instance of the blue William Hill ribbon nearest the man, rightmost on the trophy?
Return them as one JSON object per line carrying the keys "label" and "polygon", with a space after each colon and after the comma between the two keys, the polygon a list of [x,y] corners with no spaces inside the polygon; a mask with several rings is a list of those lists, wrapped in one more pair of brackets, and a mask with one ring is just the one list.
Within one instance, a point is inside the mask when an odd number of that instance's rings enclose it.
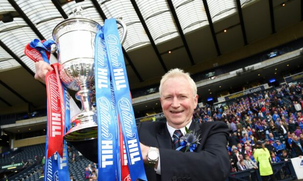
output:
{"label": "blue William Hill ribbon nearest the man, rightmost on the trophy", "polygon": [[129,81],[123,58],[118,28],[115,19],[106,19],[104,39],[108,55],[110,76],[113,83],[115,105],[121,121],[121,128],[128,158],[128,166],[132,181],[147,180],[130,99]]}

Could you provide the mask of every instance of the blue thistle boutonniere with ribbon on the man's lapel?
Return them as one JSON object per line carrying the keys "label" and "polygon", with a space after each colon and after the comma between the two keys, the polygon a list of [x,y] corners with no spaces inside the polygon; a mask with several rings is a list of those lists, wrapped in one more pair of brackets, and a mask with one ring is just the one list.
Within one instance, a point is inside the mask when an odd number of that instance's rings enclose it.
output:
{"label": "blue thistle boutonniere with ribbon on the man's lapel", "polygon": [[197,135],[194,131],[189,130],[187,127],[185,127],[185,131],[186,134],[180,138],[180,147],[178,147],[176,150],[180,150],[186,146],[184,152],[187,152],[188,150],[193,152],[195,148],[200,144],[200,135]]}

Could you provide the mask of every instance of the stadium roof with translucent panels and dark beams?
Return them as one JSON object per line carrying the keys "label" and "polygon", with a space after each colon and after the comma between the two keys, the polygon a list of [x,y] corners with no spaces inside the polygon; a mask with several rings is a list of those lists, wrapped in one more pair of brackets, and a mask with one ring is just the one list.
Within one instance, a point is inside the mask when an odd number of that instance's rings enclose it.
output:
{"label": "stadium roof with translucent panels and dark beams", "polygon": [[1,0],[3,113],[45,108],[45,86],[34,79],[24,46],[52,38],[78,6],[101,25],[118,17],[127,24],[123,52],[131,89],[158,84],[175,67],[206,71],[303,37],[301,0]]}

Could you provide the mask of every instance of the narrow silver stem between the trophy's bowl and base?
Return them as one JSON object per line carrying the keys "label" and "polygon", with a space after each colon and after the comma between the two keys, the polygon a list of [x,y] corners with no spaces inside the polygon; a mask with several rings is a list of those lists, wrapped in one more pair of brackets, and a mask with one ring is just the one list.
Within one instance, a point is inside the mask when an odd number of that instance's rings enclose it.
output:
{"label": "narrow silver stem between the trophy's bowl and base", "polygon": [[81,101],[82,104],[82,112],[88,112],[88,111],[93,111],[95,110],[94,107],[92,106],[92,98],[94,97],[94,91],[93,90],[89,90],[89,89],[82,89],[79,90],[76,93],[76,99],[78,99],[79,101]]}

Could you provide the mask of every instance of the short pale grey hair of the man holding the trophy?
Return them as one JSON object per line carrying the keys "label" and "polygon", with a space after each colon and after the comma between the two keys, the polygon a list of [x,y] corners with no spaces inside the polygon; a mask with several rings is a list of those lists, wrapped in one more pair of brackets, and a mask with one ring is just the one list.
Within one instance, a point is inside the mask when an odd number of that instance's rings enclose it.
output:
{"label": "short pale grey hair of the man holding the trophy", "polygon": [[175,68],[175,69],[171,69],[169,72],[165,73],[162,76],[161,81],[160,81],[160,87],[159,87],[160,97],[161,97],[161,93],[162,93],[162,86],[163,86],[163,84],[169,78],[174,78],[174,77],[184,77],[184,78],[186,78],[188,80],[189,84],[192,87],[194,96],[197,94],[197,86],[195,85],[195,81],[192,79],[192,77],[190,76],[190,74],[188,72],[184,72],[181,69]]}

